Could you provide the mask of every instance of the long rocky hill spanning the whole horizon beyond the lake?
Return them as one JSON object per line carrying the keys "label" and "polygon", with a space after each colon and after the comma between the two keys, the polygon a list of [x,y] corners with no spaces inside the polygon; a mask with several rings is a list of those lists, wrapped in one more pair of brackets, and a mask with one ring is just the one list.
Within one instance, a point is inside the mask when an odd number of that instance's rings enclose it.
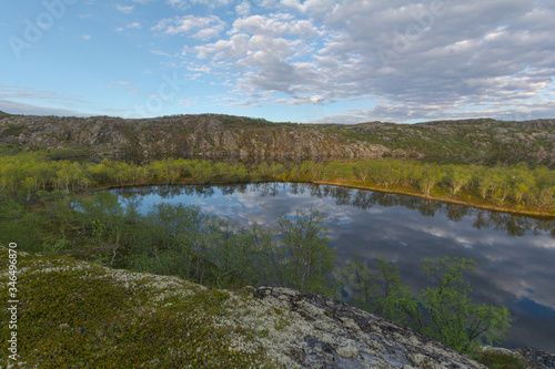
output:
{"label": "long rocky hill spanning the whole horizon beyond the lake", "polygon": [[0,144],[147,162],[163,157],[251,161],[428,158],[455,163],[555,165],[555,120],[443,121],[420,124],[294,124],[230,115],[157,119],[0,114]]}

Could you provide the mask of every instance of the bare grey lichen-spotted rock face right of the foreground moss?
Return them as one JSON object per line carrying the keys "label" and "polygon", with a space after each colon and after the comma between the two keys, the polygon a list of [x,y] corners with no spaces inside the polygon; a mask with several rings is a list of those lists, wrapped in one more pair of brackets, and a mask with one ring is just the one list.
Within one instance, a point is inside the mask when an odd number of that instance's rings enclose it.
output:
{"label": "bare grey lichen-spotted rock face right of the foreground moss", "polygon": [[485,368],[445,346],[347,304],[286,288],[253,296],[304,320],[287,356],[303,368]]}

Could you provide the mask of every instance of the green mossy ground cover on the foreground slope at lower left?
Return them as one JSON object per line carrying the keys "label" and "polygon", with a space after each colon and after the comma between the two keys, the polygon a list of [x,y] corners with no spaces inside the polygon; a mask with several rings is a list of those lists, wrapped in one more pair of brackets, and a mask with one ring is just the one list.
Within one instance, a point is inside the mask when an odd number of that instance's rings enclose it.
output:
{"label": "green mossy ground cover on the foreground slope at lower left", "polygon": [[[0,250],[8,270],[8,250]],[[29,368],[283,367],[268,358],[264,331],[231,309],[246,304],[240,294],[61,257],[20,253],[18,267],[18,353]],[[0,279],[7,284],[8,273]],[[6,288],[0,296],[10,299]],[[9,311],[1,318],[9,321]]]}

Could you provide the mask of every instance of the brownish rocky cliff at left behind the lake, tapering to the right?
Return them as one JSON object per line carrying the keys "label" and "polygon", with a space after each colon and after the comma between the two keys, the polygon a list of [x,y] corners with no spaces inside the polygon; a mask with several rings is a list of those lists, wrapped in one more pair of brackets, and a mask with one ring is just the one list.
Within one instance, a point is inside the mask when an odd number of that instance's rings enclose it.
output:
{"label": "brownish rocky cliff at left behind the lake, tapering to the right", "polygon": [[[46,148],[90,147],[134,161],[163,157],[302,160],[393,155],[380,144],[347,142],[311,126],[271,124],[224,115],[148,120],[10,116],[0,120],[3,143]],[[404,156],[405,153],[397,152]]]}

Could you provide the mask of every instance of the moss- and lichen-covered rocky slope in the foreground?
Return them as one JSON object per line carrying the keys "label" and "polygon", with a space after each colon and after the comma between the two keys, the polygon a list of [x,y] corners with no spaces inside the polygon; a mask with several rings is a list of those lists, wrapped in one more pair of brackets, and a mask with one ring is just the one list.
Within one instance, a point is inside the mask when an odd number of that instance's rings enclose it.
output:
{"label": "moss- and lichen-covered rocky slope in the foreground", "polygon": [[[0,254],[0,280],[7,284],[7,248]],[[16,362],[2,355],[2,368],[233,368],[236,362],[244,368],[485,368],[410,329],[314,294],[208,289],[176,277],[21,252],[18,268],[19,356]],[[3,300],[7,294],[2,290]],[[4,311],[2,337],[9,335],[7,320]],[[7,348],[2,340],[1,351]],[[548,360],[553,357],[546,355],[545,365],[528,361],[527,367],[548,368]]]}

